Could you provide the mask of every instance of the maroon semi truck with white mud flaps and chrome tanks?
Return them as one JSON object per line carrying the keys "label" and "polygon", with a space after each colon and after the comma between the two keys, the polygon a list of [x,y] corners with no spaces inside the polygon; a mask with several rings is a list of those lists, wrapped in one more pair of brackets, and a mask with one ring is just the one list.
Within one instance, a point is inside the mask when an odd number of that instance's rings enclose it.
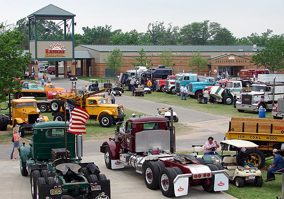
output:
{"label": "maroon semi truck with white mud flaps and chrome tanks", "polygon": [[122,122],[116,123],[115,138],[100,146],[108,169],[130,165],[143,175],[147,188],[160,188],[166,197],[185,196],[190,185],[202,185],[206,192],[228,190],[228,178],[220,164],[205,165],[202,158],[166,152],[172,149],[170,140],[174,140],[166,118],[133,117],[122,128],[119,123]]}

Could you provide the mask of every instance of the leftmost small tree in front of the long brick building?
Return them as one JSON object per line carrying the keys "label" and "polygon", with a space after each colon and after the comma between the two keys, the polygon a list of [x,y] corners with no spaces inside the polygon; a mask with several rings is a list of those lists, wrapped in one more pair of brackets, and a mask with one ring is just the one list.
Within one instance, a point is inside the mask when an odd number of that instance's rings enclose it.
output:
{"label": "leftmost small tree in front of the long brick building", "polygon": [[117,71],[123,65],[122,57],[122,52],[115,48],[112,52],[109,52],[107,58],[103,59],[103,61],[106,63],[107,68]]}

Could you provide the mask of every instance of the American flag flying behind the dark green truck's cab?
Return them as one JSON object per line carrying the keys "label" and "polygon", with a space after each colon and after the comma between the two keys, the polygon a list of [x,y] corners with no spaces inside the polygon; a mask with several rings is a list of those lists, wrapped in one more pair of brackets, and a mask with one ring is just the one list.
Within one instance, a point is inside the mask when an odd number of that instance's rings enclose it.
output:
{"label": "American flag flying behind the dark green truck's cab", "polygon": [[70,123],[67,132],[74,134],[87,133],[85,124],[90,117],[87,110],[71,103],[68,103],[68,106],[70,112]]}

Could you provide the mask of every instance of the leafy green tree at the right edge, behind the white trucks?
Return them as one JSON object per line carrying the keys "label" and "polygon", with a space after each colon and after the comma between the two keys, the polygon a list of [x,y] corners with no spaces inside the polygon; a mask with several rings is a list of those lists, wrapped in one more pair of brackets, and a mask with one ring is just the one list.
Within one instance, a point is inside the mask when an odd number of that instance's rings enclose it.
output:
{"label": "leafy green tree at the right edge, behind the white trucks", "polygon": [[254,55],[251,62],[272,71],[282,71],[284,69],[284,35],[270,38],[266,48]]}

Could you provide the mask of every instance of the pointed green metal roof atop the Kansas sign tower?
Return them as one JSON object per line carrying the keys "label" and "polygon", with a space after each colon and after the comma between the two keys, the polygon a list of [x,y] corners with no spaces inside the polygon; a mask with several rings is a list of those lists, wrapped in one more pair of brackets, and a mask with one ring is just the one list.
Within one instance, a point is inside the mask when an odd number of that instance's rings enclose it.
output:
{"label": "pointed green metal roof atop the Kansas sign tower", "polygon": [[[34,16],[37,16],[37,18],[44,18],[45,17],[50,17],[50,16],[53,16],[53,17],[60,17],[59,19],[62,19],[62,18],[70,18],[70,17],[73,17],[73,16],[76,16],[75,14],[72,14],[71,12],[68,12],[64,9],[61,9],[60,7],[57,7],[53,4],[49,4],[39,10],[37,10],[36,12],[28,15],[27,17],[30,18],[30,17],[34,17]],[[58,18],[56,18],[58,19]]]}

